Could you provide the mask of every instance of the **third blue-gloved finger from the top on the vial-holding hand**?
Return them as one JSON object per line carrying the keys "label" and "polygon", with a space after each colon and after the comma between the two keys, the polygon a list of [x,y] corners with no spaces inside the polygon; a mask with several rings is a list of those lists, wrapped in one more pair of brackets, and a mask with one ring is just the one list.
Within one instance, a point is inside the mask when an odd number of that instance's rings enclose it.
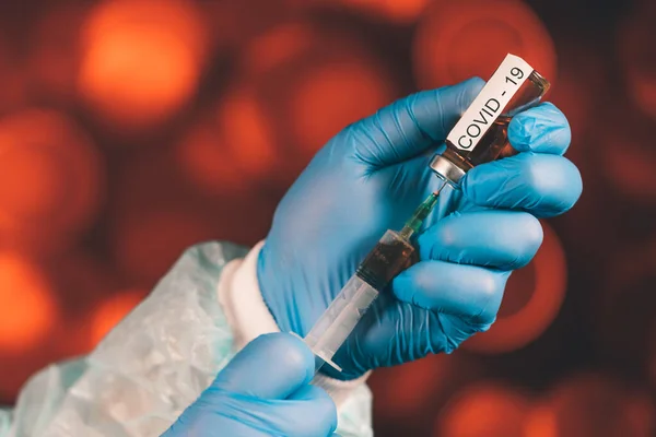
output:
{"label": "third blue-gloved finger from the top on the vial-holding hand", "polygon": [[418,238],[422,261],[515,270],[526,265],[542,243],[542,226],[531,214],[518,211],[454,213]]}

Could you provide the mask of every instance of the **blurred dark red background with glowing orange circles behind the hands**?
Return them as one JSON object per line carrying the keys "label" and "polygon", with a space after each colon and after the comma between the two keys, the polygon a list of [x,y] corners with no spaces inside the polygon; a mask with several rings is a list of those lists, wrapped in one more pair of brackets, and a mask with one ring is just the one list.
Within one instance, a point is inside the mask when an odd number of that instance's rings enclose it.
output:
{"label": "blurred dark red background with glowing orange circles behind the hands", "polygon": [[253,245],[313,154],[508,51],[581,168],[496,324],[371,378],[376,436],[656,435],[649,0],[0,2],[0,403],[93,349],[187,247]]}

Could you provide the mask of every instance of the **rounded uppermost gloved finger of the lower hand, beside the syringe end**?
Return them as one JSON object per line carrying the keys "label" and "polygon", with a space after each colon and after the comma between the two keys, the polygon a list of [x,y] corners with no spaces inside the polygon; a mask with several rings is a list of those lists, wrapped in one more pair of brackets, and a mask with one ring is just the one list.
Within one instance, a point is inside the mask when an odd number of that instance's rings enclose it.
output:
{"label": "rounded uppermost gloved finger of the lower hand, beside the syringe end", "polygon": [[312,351],[286,333],[260,335],[219,373],[211,388],[262,399],[286,399],[308,383],[315,369]]}

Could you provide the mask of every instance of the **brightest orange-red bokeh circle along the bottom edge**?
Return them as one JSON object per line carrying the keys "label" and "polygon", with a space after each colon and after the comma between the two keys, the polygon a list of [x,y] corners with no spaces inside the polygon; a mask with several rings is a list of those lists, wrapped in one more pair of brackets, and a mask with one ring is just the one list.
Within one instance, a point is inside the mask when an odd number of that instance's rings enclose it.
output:
{"label": "brightest orange-red bokeh circle along the bottom edge", "polygon": [[442,411],[435,436],[523,437],[530,400],[496,382],[477,382],[456,393]]}

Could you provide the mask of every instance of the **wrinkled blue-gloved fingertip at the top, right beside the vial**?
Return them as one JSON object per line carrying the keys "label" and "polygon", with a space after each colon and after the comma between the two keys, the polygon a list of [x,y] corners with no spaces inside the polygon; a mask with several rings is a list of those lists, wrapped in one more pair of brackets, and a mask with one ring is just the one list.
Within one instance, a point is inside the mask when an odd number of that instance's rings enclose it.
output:
{"label": "wrinkled blue-gloved fingertip at the top, right beside the vial", "polygon": [[565,115],[546,102],[513,117],[508,140],[519,152],[562,155],[570,146],[572,131]]}

